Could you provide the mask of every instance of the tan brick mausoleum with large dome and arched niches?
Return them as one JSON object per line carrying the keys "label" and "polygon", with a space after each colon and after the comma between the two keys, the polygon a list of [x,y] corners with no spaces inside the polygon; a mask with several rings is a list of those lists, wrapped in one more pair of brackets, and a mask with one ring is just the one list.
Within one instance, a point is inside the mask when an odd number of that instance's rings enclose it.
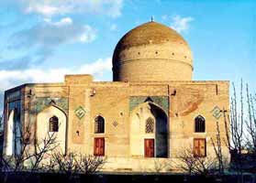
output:
{"label": "tan brick mausoleum with large dome and arched niches", "polygon": [[211,139],[217,122],[225,135],[229,83],[193,81],[193,70],[192,51],[175,30],[154,21],[135,27],[114,50],[113,81],[66,75],[6,91],[4,154],[19,153],[15,129],[29,124],[31,151],[54,132],[62,153],[106,156],[105,171],[178,171],[174,162],[189,147],[216,156]]}

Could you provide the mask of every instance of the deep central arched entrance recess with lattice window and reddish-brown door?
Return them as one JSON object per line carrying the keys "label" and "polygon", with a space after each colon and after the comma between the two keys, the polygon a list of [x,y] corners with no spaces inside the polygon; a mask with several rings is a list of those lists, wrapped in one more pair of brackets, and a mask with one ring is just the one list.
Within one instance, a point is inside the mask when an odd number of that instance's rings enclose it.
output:
{"label": "deep central arched entrance recess with lattice window and reddish-brown door", "polygon": [[159,105],[140,103],[130,120],[131,156],[168,157],[168,117]]}

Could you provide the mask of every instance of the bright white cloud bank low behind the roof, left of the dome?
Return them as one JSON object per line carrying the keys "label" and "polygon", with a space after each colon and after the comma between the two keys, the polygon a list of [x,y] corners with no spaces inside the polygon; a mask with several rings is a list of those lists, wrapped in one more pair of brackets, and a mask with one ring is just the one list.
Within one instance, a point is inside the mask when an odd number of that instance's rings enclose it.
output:
{"label": "bright white cloud bank low behind the roof, left of the dome", "polygon": [[[95,62],[83,64],[74,68],[60,69],[27,69],[27,70],[0,70],[0,97],[3,92],[17,85],[28,82],[62,82],[65,74],[92,74],[99,80],[112,69],[111,58],[97,59]],[[3,102],[0,99],[0,111]]]}

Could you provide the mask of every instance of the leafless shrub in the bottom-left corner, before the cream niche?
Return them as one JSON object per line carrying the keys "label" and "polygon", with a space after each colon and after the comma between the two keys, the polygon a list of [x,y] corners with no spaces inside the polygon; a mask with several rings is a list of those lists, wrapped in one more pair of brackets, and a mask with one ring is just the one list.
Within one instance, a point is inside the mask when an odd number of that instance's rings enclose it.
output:
{"label": "leafless shrub in the bottom-left corner, before the cream niche", "polygon": [[[43,168],[42,161],[48,153],[51,153],[59,144],[56,141],[56,134],[48,133],[42,143],[32,144],[34,137],[31,133],[31,126],[27,125],[24,129],[20,128],[20,149],[15,151],[12,156],[1,156],[1,175],[5,182],[10,176],[20,176],[26,181],[26,176],[21,176],[24,172],[36,172]],[[27,174],[28,175],[28,174]]]}

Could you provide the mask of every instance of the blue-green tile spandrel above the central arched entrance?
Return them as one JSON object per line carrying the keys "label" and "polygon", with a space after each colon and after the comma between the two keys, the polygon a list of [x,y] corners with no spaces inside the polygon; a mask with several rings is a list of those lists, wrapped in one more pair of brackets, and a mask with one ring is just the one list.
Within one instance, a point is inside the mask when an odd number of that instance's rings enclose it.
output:
{"label": "blue-green tile spandrel above the central arched entrance", "polygon": [[132,96],[129,97],[129,111],[131,112],[135,107],[140,103],[145,102],[146,100],[154,102],[161,106],[161,108],[168,113],[169,102],[168,96]]}

